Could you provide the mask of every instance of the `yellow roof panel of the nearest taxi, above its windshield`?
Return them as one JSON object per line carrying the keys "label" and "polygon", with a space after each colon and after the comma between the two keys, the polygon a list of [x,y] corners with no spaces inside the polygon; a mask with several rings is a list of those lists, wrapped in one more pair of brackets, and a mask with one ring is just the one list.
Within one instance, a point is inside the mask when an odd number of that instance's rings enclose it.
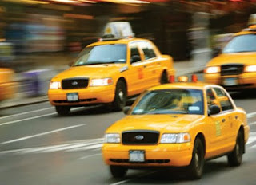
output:
{"label": "yellow roof panel of the nearest taxi, above its windshield", "polygon": [[170,83],[170,84],[165,84],[165,85],[158,85],[154,86],[148,90],[153,91],[153,90],[161,90],[161,89],[199,89],[202,90],[206,86],[210,84],[204,83],[204,82],[175,82],[175,83]]}

